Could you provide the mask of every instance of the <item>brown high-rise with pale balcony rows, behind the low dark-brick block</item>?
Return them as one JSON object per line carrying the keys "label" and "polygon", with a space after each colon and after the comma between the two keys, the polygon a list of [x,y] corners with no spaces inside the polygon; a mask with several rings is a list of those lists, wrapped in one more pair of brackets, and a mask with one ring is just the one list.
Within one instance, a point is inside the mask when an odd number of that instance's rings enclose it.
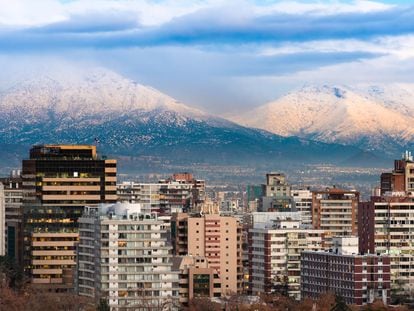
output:
{"label": "brown high-rise with pale balcony rows, behind the low dark-brick block", "polygon": [[[334,236],[358,234],[359,192],[338,188],[312,192],[312,225]],[[329,244],[329,243],[328,243]]]}

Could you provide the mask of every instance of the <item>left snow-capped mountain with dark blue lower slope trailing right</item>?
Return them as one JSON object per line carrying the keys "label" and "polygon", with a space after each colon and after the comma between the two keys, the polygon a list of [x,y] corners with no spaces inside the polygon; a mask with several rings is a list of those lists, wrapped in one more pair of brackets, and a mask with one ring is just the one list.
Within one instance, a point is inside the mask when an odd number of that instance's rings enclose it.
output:
{"label": "left snow-capped mountain with dark blue lower slope trailing right", "polygon": [[335,162],[360,152],[246,128],[106,69],[45,71],[0,92],[0,149],[95,138],[106,154],[185,163]]}

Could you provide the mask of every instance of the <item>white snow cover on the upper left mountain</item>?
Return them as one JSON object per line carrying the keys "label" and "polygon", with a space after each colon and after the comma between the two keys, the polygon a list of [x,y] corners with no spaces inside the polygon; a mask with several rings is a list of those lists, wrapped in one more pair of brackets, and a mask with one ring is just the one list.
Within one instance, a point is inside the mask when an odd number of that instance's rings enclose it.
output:
{"label": "white snow cover on the upper left mountain", "polygon": [[[45,119],[50,114],[62,120],[82,120],[94,116],[96,122],[113,114],[136,111],[173,111],[183,117],[202,118],[206,114],[147,86],[137,84],[112,71],[49,71],[39,77],[18,81],[0,93],[3,114]],[[24,112],[22,114],[22,112]]]}

